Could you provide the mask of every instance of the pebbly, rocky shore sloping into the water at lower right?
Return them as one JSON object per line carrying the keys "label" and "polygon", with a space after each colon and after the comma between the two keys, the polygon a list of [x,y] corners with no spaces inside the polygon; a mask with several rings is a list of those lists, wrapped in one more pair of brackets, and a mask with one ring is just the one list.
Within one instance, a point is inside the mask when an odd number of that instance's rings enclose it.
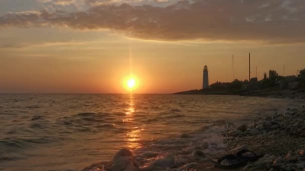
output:
{"label": "pebbly, rocky shore sloping into the water at lower right", "polygon": [[[217,128],[220,131],[215,131]],[[200,134],[218,133],[221,142],[201,143],[200,146],[182,151],[184,154],[169,154],[154,158],[144,165],[131,152],[123,149],[114,156],[113,161],[105,161],[84,168],[83,171],[153,171],[153,170],[225,170],[214,167],[209,160],[224,154],[247,148],[254,152],[263,152],[264,157],[233,170],[303,170],[305,167],[305,103],[299,108],[286,108],[282,113],[265,115],[241,125],[231,125],[224,120],[204,126]],[[191,141],[197,133],[182,134],[179,139]],[[198,140],[199,141],[199,140]],[[197,142],[193,142],[197,143]],[[211,148],[212,147],[212,148]],[[209,153],[209,149],[215,153]],[[207,152],[209,151],[209,152]],[[122,154],[123,153],[123,154]],[[181,155],[187,158],[179,158]],[[112,165],[113,164],[113,165]],[[103,167],[104,166],[104,167]],[[112,169],[113,168],[113,169]]]}

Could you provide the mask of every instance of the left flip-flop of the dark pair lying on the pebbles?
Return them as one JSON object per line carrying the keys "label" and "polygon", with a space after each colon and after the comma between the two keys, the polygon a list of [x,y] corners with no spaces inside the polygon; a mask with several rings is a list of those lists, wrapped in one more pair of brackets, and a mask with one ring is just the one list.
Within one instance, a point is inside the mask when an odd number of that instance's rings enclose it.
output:
{"label": "left flip-flop of the dark pair lying on the pebbles", "polygon": [[225,155],[219,159],[212,159],[211,161],[220,168],[237,168],[248,162],[246,159],[240,158],[235,154]]}

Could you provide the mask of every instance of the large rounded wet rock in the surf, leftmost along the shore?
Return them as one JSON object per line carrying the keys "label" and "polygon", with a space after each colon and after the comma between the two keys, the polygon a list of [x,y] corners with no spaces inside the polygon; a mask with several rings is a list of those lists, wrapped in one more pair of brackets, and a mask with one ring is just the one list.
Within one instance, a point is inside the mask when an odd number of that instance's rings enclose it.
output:
{"label": "large rounded wet rock in the surf, leftmost along the shore", "polygon": [[113,171],[137,171],[138,168],[133,162],[132,152],[126,148],[119,150],[113,157]]}

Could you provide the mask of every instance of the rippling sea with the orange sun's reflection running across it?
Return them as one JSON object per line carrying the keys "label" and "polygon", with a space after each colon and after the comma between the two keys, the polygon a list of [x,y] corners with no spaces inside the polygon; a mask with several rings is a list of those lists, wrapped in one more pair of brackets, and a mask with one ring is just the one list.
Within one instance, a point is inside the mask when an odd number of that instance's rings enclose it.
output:
{"label": "rippling sea with the orange sun's reflection running across it", "polygon": [[[0,170],[81,170],[129,148],[142,160],[213,141],[300,99],[178,94],[0,94]],[[181,135],[192,135],[191,141]],[[213,148],[216,149],[216,148]]]}

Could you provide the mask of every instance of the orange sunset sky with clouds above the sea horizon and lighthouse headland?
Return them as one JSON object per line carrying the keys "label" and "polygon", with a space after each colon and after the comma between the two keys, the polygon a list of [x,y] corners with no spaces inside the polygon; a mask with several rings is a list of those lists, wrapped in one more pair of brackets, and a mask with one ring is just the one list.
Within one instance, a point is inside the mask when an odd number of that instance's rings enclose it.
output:
{"label": "orange sunset sky with clouds above the sea horizon and lighthouse headland", "polygon": [[[0,0],[0,93],[172,93],[305,68],[303,0]],[[257,68],[257,72],[256,72]]]}

